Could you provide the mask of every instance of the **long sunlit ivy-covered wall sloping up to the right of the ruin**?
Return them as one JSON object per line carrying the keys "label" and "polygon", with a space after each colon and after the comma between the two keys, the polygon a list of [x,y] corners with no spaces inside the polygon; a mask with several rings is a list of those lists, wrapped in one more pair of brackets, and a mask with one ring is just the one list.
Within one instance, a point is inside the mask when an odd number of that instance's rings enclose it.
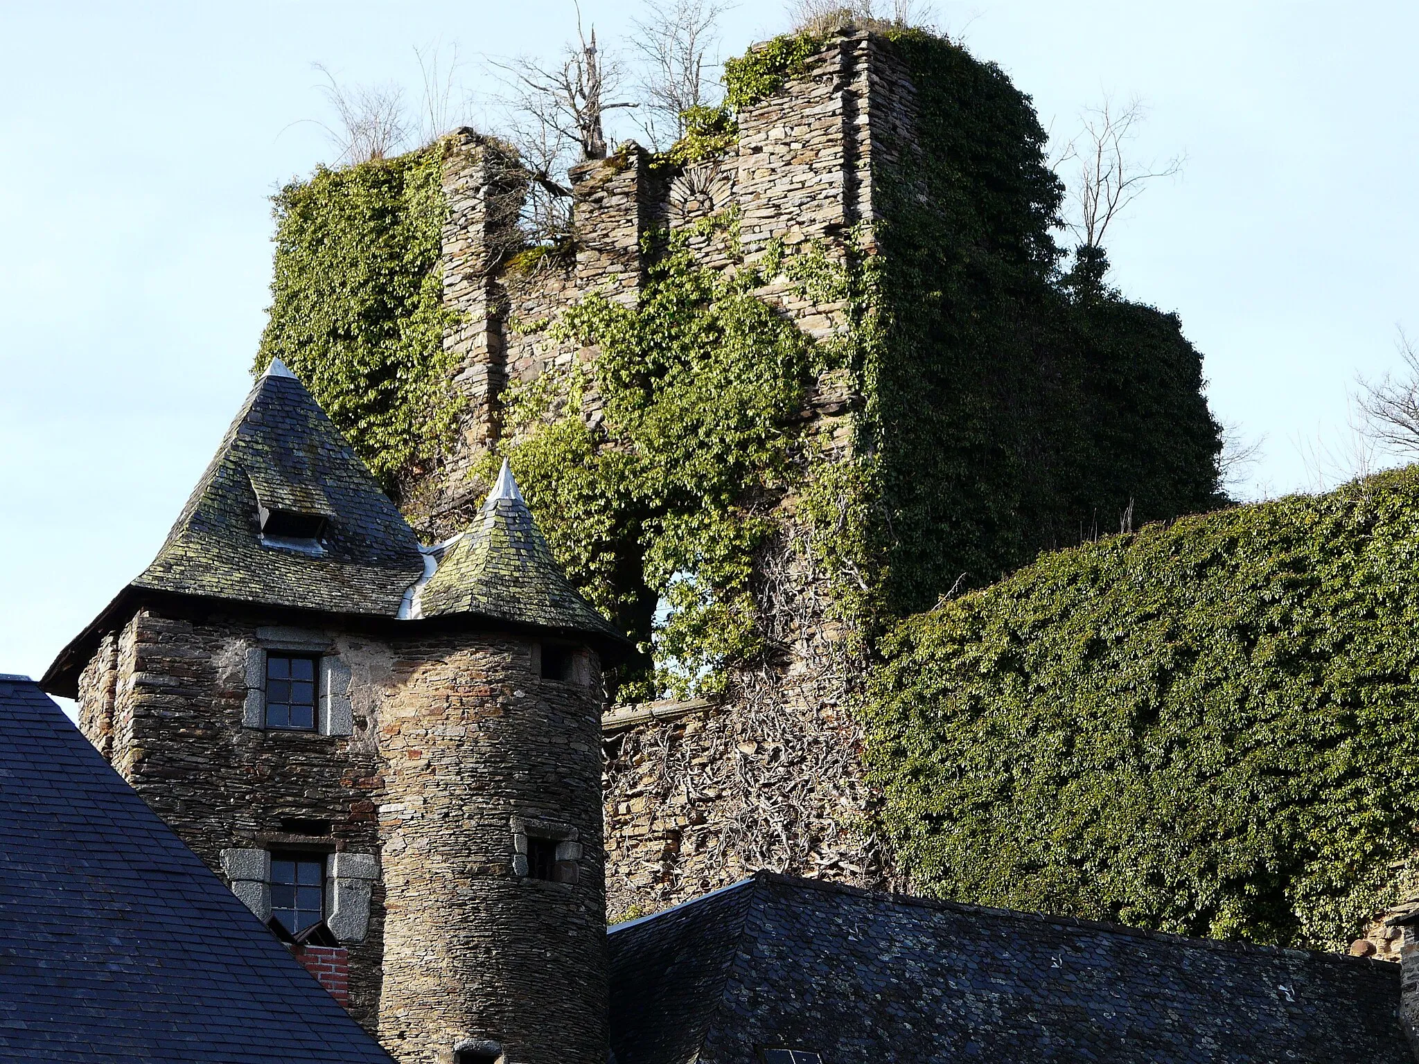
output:
{"label": "long sunlit ivy-covered wall sloping up to the right of the ruin", "polygon": [[917,890],[1335,948],[1419,844],[1419,467],[1050,553],[868,706]]}

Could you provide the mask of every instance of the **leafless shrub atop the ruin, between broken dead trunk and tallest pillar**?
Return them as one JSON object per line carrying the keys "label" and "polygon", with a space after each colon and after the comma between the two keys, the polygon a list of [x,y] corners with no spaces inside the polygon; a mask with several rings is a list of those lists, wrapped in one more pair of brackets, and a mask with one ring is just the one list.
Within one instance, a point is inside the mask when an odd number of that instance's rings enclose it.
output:
{"label": "leafless shrub atop the ruin, between broken dead trunk and tallest pillar", "polygon": [[684,136],[685,111],[711,102],[715,81],[710,72],[718,64],[711,52],[727,10],[718,0],[647,1],[646,17],[636,20],[634,47],[643,67],[640,126],[656,148]]}

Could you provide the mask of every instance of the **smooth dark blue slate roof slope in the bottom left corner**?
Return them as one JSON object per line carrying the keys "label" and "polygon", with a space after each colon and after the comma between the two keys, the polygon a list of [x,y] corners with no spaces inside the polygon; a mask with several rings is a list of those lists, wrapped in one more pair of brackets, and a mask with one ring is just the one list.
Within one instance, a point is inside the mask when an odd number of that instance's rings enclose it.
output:
{"label": "smooth dark blue slate roof slope in the bottom left corner", "polygon": [[0,1060],[390,1057],[26,677],[0,675]]}

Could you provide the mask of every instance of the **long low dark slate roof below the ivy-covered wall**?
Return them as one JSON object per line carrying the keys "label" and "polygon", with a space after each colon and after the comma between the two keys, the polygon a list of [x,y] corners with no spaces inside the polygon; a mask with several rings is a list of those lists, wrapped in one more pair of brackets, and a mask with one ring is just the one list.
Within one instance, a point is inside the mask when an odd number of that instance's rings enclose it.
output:
{"label": "long low dark slate roof below the ivy-covered wall", "polygon": [[[617,1064],[1413,1064],[1399,965],[761,872],[612,928]],[[695,1055],[700,1054],[700,1055]]]}

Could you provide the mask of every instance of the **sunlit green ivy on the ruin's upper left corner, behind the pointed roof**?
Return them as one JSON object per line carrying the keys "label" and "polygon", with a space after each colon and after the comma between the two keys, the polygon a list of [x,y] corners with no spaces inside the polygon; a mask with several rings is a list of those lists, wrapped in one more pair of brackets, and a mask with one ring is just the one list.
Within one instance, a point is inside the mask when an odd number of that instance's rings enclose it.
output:
{"label": "sunlit green ivy on the ruin's upper left corner, behind the pointed roof", "polygon": [[396,491],[457,420],[443,346],[441,146],[321,167],[275,197],[275,275],[255,369],[280,356]]}

